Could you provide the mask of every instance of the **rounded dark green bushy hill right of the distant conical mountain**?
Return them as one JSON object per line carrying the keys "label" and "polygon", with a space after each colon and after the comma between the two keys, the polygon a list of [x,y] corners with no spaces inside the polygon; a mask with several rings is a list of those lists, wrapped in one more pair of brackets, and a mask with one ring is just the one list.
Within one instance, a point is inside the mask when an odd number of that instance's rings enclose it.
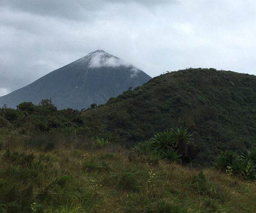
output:
{"label": "rounded dark green bushy hill right of the distant conical mountain", "polygon": [[128,142],[187,127],[200,158],[211,161],[220,150],[256,144],[256,76],[213,68],[170,72],[85,111],[83,118],[93,132]]}

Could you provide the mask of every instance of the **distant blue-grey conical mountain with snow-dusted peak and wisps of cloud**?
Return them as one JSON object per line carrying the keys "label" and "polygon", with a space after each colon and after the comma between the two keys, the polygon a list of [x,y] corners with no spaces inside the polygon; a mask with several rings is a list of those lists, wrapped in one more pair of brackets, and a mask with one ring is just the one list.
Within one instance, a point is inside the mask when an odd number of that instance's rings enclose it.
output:
{"label": "distant blue-grey conical mountain with snow-dusted peak and wisps of cloud", "polygon": [[92,103],[104,104],[109,98],[149,79],[150,76],[131,63],[104,50],[96,50],[0,97],[0,106],[7,104],[15,108],[24,101],[38,104],[41,99],[52,98],[59,109],[82,109]]}

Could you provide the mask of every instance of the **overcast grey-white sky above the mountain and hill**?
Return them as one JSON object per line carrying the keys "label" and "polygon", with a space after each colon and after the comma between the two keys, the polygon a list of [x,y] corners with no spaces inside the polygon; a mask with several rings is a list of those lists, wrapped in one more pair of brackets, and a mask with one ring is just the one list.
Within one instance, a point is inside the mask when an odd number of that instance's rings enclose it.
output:
{"label": "overcast grey-white sky above the mountain and hill", "polygon": [[256,0],[0,0],[0,96],[96,49],[151,77],[256,75]]}

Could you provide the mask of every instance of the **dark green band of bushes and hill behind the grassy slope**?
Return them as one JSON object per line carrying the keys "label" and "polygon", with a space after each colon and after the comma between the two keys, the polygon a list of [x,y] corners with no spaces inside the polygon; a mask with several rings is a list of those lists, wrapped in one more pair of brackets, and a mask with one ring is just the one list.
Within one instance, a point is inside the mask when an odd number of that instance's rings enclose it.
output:
{"label": "dark green band of bushes and hill behind the grassy slope", "polygon": [[256,77],[248,74],[215,69],[166,73],[85,111],[57,110],[44,102],[0,109],[0,127],[23,135],[58,132],[126,144],[186,127],[201,149],[194,163],[207,165],[221,151],[244,153],[256,144]]}

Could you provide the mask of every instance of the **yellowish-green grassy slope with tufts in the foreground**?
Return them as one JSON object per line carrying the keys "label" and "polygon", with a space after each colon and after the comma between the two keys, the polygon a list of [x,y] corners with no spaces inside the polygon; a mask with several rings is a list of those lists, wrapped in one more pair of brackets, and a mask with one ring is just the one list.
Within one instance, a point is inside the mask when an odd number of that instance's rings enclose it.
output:
{"label": "yellowish-green grassy slope with tufts in the foreground", "polygon": [[256,184],[119,145],[0,151],[0,212],[256,212]]}

